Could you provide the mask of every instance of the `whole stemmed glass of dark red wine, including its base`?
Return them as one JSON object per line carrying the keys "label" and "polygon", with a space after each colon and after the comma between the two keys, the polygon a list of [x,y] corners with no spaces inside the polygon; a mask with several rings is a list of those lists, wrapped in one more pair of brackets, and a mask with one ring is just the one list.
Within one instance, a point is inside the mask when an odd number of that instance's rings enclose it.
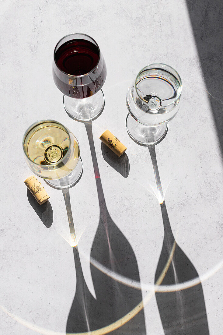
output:
{"label": "whole stemmed glass of dark red wine, including its base", "polygon": [[53,78],[64,93],[64,108],[76,121],[96,119],[104,109],[101,90],[106,65],[97,43],[85,34],[70,34],[56,45]]}

